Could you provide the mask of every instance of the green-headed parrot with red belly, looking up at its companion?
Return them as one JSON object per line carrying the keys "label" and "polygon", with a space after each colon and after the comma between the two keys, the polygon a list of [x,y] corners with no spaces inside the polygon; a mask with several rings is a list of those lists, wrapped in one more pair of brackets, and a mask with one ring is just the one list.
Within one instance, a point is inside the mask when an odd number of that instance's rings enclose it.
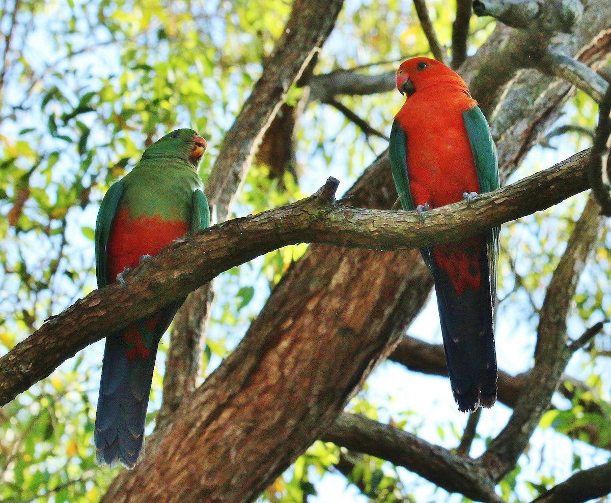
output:
{"label": "green-headed parrot with red belly, looking up at its companion", "polygon": [[[148,147],[134,169],[108,189],[95,225],[98,288],[123,282],[125,267],[137,267],[177,237],[210,226],[197,174],[205,150],[197,132],[177,129]],[[137,463],[157,346],[183,301],[106,338],[95,418],[98,463]]]}

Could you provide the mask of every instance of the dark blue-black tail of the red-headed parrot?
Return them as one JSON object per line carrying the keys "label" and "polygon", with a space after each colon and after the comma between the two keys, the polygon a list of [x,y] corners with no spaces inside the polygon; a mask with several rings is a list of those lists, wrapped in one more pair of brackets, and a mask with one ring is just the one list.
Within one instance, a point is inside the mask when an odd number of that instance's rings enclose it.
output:
{"label": "dark blue-black tail of the red-headed parrot", "polygon": [[481,285],[459,295],[447,272],[432,261],[441,333],[450,385],[458,410],[492,407],[497,393],[497,363],[488,256],[480,254]]}

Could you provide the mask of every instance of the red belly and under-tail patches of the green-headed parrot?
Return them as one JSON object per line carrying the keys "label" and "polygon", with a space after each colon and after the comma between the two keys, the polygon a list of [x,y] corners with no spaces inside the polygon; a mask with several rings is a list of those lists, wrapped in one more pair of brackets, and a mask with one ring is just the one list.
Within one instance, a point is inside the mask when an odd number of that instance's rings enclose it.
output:
{"label": "red belly and under-tail patches of the green-headed parrot", "polygon": [[[188,223],[181,220],[163,220],[160,215],[130,219],[127,209],[117,212],[108,239],[108,280],[115,281],[125,267],[139,266],[142,255],[161,252],[161,248],[184,236],[188,230]],[[125,328],[123,341],[128,360],[148,358],[150,347],[147,348],[146,343],[150,346],[160,322],[161,316],[155,314],[145,320],[144,327],[131,324]]]}

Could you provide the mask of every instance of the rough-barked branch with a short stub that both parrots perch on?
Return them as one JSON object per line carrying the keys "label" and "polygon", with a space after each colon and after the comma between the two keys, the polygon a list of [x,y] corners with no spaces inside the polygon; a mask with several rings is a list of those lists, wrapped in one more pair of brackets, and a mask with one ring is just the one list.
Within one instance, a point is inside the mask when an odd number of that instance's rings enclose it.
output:
{"label": "rough-barked branch with a short stub that both parrots perch on", "polygon": [[[0,358],[0,404],[49,375],[79,349],[147,316],[216,275],[276,248],[317,242],[399,250],[456,241],[548,208],[587,188],[584,151],[510,186],[431,210],[426,221],[406,211],[356,209],[332,201],[338,181],[297,203],[230,220],[175,241],[127,276],[46,320]],[[159,286],[163,285],[163,288]]]}

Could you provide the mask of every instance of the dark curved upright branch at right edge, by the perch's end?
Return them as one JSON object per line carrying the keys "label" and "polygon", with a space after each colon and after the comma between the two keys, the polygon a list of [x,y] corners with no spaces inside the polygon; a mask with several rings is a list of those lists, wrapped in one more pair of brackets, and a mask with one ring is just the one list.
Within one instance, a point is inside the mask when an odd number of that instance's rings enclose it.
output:
{"label": "dark curved upright branch at right edge, by the perch's end", "polygon": [[[610,113],[611,85],[607,85],[607,90],[600,102],[598,110],[598,126],[596,126],[594,144],[592,145],[592,153],[590,156],[590,170],[588,173],[588,178],[592,186],[592,194],[596,202],[601,205],[601,215],[607,217],[611,217],[611,186],[609,185],[609,170],[611,168],[609,159],[611,159],[611,156],[609,156],[609,147],[607,147],[607,140],[609,140],[609,135],[611,134]],[[606,177],[602,171],[603,163],[607,166]],[[607,178],[607,180],[605,180],[605,178]]]}

